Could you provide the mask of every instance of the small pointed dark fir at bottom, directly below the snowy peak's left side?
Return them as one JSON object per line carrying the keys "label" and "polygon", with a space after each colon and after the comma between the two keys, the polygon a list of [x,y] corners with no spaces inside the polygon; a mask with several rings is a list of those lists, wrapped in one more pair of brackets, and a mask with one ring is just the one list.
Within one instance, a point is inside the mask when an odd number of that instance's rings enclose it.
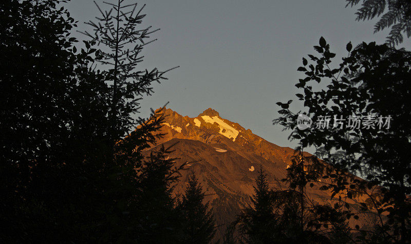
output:
{"label": "small pointed dark fir at bottom, directly below the snowy peak's left side", "polygon": [[213,239],[214,216],[209,203],[203,203],[204,196],[197,177],[191,174],[178,208],[183,216],[183,243],[210,243]]}

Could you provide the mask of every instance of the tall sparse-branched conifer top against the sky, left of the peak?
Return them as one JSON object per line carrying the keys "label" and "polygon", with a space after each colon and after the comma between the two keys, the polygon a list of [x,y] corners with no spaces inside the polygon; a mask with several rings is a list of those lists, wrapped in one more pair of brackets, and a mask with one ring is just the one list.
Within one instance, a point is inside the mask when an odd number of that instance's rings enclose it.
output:
{"label": "tall sparse-branched conifer top against the sky, left of the peak", "polygon": [[141,55],[144,46],[157,40],[147,39],[159,29],[141,27],[145,5],[137,8],[137,3],[125,4],[125,0],[104,3],[109,6],[108,11],[103,11],[95,2],[101,17],[97,18],[97,23],[86,23],[93,28],[94,34],[88,31],[80,33],[104,47],[96,53],[96,60],[105,68],[105,80],[109,84],[110,139],[114,144],[135,126],[132,115],[139,111],[142,96],[153,93],[152,83],[166,80],[164,73],[174,68],[166,71],[157,68],[137,70],[137,65],[144,58]]}

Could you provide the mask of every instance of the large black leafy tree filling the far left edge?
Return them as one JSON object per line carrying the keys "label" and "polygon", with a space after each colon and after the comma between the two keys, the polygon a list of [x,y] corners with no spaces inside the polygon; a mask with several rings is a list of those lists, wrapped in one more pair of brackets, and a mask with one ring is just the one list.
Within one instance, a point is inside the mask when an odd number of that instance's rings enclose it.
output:
{"label": "large black leafy tree filling the far left edge", "polygon": [[96,168],[103,171],[109,156],[107,86],[89,68],[94,50],[77,53],[73,46],[77,40],[69,32],[76,23],[57,8],[63,2],[1,3],[5,241],[86,239],[102,217],[90,199],[102,199]]}

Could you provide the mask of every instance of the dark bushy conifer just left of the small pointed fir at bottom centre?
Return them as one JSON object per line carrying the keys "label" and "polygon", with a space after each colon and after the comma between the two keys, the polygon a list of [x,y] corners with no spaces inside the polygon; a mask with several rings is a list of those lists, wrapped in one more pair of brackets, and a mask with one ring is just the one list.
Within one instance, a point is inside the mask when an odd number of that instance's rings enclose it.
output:
{"label": "dark bushy conifer just left of the small pointed fir at bottom centre", "polygon": [[168,156],[174,145],[152,148],[138,171],[137,200],[131,209],[139,218],[136,235],[141,242],[176,243],[181,238],[181,217],[173,190],[185,164],[176,167],[176,158]]}

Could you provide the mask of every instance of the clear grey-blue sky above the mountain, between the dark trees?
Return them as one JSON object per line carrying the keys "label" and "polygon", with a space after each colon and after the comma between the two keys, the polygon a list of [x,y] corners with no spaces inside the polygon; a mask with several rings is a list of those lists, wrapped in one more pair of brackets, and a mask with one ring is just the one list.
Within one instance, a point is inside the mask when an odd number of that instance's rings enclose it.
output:
{"label": "clear grey-blue sky above the mountain, between the dark trees", "polygon": [[[96,2],[107,7],[102,0]],[[150,107],[167,101],[167,107],[189,117],[212,107],[221,117],[281,146],[294,147],[295,142],[287,140],[289,132],[281,126],[272,125],[279,116],[275,103],[296,100],[300,91],[294,85],[302,77],[296,69],[303,56],[314,53],[312,46],[320,37],[337,53],[338,64],[349,41],[353,46],[363,41],[382,44],[388,34],[373,34],[377,20],[356,22],[356,8],[345,8],[344,0],[137,2],[146,4],[143,26],[161,28],[153,34],[158,41],[144,49],[140,68],[180,66],[167,75],[168,81],[154,85],[155,93],[143,99],[139,116],[148,116]],[[99,14],[91,0],[71,0],[66,7],[81,23]],[[405,38],[400,47],[410,50],[410,44]]]}

